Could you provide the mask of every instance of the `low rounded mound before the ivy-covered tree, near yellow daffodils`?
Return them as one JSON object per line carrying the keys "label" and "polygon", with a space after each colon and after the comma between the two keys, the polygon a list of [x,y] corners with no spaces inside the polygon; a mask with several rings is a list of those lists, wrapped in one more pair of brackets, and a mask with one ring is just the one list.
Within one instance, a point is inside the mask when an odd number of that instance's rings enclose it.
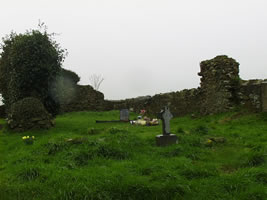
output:
{"label": "low rounded mound before the ivy-covered tree, near yellow daffodils", "polygon": [[25,131],[33,128],[50,128],[52,125],[51,115],[36,98],[24,98],[11,106],[8,115],[8,126],[11,129]]}

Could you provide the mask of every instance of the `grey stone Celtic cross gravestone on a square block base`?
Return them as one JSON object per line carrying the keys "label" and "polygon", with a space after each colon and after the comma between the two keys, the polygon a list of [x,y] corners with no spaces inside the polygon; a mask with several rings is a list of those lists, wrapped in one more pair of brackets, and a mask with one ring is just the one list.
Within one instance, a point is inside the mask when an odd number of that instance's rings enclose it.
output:
{"label": "grey stone Celtic cross gravestone on a square block base", "polygon": [[160,111],[158,117],[162,120],[162,135],[156,136],[157,146],[177,144],[177,136],[171,134],[170,131],[170,120],[173,118],[173,115],[171,114],[169,108],[165,106],[164,109]]}

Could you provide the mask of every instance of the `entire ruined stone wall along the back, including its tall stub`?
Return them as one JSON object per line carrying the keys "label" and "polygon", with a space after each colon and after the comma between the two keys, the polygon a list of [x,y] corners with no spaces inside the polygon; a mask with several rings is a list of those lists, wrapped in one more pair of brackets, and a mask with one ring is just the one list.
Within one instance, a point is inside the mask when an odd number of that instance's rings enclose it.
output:
{"label": "entire ruined stone wall along the back, including its tall stub", "polygon": [[[146,109],[149,114],[156,115],[165,105],[174,116],[220,113],[238,105],[251,111],[267,112],[267,79],[243,81],[238,73],[239,63],[227,56],[217,56],[200,63],[198,88],[118,101],[104,100],[104,95],[90,85],[76,85],[73,98],[61,105],[61,112],[128,108],[135,112]],[[3,106],[1,113],[4,113]]]}

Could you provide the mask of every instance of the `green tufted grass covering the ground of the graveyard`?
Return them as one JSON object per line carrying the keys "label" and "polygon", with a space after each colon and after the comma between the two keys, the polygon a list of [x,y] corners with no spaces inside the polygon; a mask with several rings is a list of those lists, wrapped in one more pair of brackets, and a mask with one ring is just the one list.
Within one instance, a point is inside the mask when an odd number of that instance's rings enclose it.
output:
{"label": "green tufted grass covering the ground of the graveyard", "polygon": [[95,123],[118,116],[68,113],[50,130],[0,130],[0,199],[267,199],[266,113],[174,118],[179,144],[168,147],[155,145],[161,126]]}

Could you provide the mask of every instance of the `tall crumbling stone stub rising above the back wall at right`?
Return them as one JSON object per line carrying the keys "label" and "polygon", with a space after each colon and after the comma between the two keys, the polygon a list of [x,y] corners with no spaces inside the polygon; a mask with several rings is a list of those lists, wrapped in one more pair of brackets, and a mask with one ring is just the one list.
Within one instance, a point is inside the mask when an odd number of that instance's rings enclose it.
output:
{"label": "tall crumbling stone stub rising above the back wall at right", "polygon": [[201,114],[225,112],[239,103],[239,63],[217,56],[200,63]]}

